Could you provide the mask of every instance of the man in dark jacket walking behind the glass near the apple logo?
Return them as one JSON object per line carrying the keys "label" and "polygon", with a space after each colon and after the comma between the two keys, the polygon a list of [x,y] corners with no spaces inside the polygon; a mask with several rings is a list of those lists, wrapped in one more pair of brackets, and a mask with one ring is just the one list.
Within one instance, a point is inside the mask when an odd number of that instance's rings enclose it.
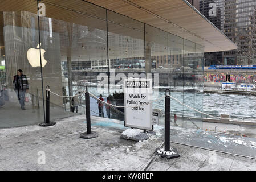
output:
{"label": "man in dark jacket walking behind the glass near the apple logo", "polygon": [[22,74],[22,70],[17,70],[17,75],[13,77],[13,89],[15,90],[19,104],[21,104],[21,109],[26,110],[24,108],[24,99],[25,94],[29,90],[29,82],[27,82],[27,76]]}

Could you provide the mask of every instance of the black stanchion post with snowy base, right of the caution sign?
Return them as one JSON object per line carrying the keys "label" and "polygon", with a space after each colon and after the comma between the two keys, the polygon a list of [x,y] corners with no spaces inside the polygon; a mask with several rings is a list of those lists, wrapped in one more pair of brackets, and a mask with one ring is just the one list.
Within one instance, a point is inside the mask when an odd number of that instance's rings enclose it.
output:
{"label": "black stanchion post with snowy base, right of the caution sign", "polygon": [[180,155],[170,148],[170,90],[165,90],[165,119],[164,119],[164,148],[157,148],[156,153],[161,157],[172,159]]}

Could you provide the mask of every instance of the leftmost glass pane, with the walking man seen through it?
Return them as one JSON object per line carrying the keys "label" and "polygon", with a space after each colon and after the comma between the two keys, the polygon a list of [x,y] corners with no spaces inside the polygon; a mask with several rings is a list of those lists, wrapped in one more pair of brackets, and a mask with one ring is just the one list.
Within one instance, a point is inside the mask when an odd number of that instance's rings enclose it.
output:
{"label": "leftmost glass pane, with the walking man seen through it", "polygon": [[39,43],[36,2],[18,6],[17,1],[6,1],[4,5],[0,11],[0,127],[44,122],[40,65],[27,56]]}

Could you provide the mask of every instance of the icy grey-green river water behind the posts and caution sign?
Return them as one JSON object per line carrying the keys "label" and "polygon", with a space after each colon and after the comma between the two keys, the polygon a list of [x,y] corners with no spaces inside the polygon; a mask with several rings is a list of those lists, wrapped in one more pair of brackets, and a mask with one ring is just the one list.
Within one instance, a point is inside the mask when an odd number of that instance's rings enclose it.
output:
{"label": "icy grey-green river water behind the posts and caution sign", "polygon": [[[108,96],[108,89],[102,89],[98,92],[96,87],[90,87],[88,88],[88,91],[92,94],[95,94],[95,96],[102,94],[104,100],[106,100]],[[111,88],[110,92],[113,93],[115,90]],[[256,118],[256,96],[218,93],[203,94],[200,92],[171,92],[170,94],[184,104],[214,116],[220,116],[221,113],[227,113],[230,114],[231,118],[236,119]],[[164,95],[164,91],[159,91],[157,98]],[[96,100],[94,103],[95,106],[92,107],[96,109]],[[152,107],[153,109],[164,110],[164,97],[161,98],[161,100],[153,102]],[[172,113],[176,113],[178,115],[202,117],[200,113],[196,113],[196,111],[190,110],[188,107],[179,104],[175,100],[171,100],[170,110]]]}

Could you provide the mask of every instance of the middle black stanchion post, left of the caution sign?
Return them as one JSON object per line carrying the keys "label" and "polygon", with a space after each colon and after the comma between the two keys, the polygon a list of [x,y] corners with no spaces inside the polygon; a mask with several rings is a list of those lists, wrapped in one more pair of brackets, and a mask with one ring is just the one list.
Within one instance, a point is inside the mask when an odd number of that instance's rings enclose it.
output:
{"label": "middle black stanchion post, left of the caution sign", "polygon": [[97,137],[97,132],[91,131],[90,94],[86,86],[86,126],[87,132],[81,133],[80,138],[91,139]]}

